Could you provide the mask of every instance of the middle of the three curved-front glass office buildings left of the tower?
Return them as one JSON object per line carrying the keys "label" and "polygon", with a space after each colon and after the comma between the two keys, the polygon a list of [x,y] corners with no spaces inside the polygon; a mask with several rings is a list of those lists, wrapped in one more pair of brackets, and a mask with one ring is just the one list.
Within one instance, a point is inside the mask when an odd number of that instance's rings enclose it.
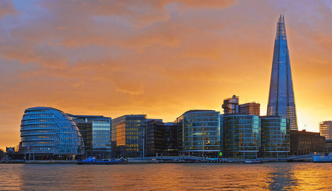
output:
{"label": "middle of the three curved-front glass office buildings left of the tower", "polygon": [[256,159],[259,152],[259,116],[242,113],[223,114],[221,123],[222,158]]}

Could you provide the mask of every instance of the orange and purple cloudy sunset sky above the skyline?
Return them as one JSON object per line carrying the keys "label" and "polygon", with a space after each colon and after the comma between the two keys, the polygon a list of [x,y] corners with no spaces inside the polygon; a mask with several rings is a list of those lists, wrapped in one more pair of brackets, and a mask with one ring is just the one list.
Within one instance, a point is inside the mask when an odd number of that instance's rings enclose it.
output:
{"label": "orange and purple cloudy sunset sky above the skyline", "polygon": [[0,147],[35,106],[169,122],[237,95],[266,115],[280,14],[298,128],[318,132],[332,120],[329,0],[0,0]]}

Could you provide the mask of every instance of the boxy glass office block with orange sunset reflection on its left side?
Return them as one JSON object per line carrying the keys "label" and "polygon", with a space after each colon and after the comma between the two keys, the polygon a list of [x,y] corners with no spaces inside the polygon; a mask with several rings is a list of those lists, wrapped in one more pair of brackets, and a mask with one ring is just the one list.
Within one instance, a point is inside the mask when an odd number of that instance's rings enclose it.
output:
{"label": "boxy glass office block with orange sunset reflection on its left side", "polygon": [[124,115],[112,119],[112,157],[144,157],[146,115]]}

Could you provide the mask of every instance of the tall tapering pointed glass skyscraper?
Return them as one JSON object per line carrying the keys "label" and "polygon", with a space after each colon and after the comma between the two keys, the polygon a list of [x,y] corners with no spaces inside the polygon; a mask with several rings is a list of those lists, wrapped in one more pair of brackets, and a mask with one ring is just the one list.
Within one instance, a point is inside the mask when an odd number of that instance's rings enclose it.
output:
{"label": "tall tapering pointed glass skyscraper", "polygon": [[267,115],[290,118],[290,129],[297,130],[293,80],[287,46],[284,16],[277,22]]}

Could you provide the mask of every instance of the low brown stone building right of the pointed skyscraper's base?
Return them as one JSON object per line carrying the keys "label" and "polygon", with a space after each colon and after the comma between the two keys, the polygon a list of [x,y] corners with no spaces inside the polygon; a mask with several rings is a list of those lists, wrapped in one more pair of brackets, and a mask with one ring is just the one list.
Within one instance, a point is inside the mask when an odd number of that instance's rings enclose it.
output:
{"label": "low brown stone building right of the pointed skyscraper's base", "polygon": [[290,156],[325,152],[325,137],[305,130],[290,130]]}

